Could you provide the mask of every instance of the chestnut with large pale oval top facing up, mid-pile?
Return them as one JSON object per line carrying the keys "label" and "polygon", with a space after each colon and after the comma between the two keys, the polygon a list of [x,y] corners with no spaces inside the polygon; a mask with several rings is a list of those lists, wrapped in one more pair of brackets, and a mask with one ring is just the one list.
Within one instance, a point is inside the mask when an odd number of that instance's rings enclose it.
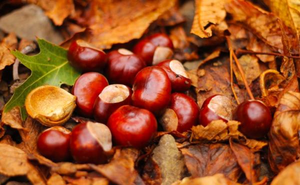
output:
{"label": "chestnut with large pale oval top facing up, mid-pile", "polygon": [[96,121],[105,123],[118,107],[130,104],[132,90],[123,84],[112,84],[103,88],[95,100],[93,115]]}

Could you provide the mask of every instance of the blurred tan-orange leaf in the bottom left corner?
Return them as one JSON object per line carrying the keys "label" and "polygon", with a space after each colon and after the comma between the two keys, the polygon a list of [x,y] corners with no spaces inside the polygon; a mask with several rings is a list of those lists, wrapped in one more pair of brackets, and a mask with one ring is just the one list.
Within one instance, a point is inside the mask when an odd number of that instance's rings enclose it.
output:
{"label": "blurred tan-orange leaf in the bottom left corner", "polygon": [[27,175],[32,184],[45,184],[40,172],[28,162],[21,149],[0,143],[0,173],[6,176]]}

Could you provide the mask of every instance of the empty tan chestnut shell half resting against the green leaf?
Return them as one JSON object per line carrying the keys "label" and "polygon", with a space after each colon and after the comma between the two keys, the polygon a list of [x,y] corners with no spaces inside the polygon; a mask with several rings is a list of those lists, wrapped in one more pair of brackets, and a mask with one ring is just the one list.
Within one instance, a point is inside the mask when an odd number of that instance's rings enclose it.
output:
{"label": "empty tan chestnut shell half resting against the green leaf", "polygon": [[52,85],[42,85],[31,90],[25,99],[27,113],[41,124],[63,124],[72,115],[76,97],[66,90]]}

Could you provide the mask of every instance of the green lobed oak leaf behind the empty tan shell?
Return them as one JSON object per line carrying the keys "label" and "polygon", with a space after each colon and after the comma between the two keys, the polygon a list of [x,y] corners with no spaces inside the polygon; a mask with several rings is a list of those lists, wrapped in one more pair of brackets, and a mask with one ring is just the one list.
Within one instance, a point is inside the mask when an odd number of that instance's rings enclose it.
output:
{"label": "green lobed oak leaf behind the empty tan shell", "polygon": [[59,87],[62,83],[73,85],[80,75],[69,64],[66,57],[67,50],[43,39],[37,39],[37,43],[40,52],[34,56],[22,54],[17,50],[12,51],[12,54],[31,70],[31,75],[15,89],[3,111],[8,112],[11,108],[18,106],[23,120],[27,116],[24,108],[25,98],[32,89],[43,84]]}

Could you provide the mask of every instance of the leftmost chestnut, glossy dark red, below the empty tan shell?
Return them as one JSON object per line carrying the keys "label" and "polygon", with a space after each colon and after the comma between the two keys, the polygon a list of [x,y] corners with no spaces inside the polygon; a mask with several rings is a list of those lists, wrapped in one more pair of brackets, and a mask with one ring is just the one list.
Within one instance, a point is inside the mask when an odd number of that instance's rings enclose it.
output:
{"label": "leftmost chestnut, glossy dark red, below the empty tan shell", "polygon": [[36,147],[41,155],[50,160],[65,161],[70,158],[69,138],[70,130],[53,126],[40,133]]}

